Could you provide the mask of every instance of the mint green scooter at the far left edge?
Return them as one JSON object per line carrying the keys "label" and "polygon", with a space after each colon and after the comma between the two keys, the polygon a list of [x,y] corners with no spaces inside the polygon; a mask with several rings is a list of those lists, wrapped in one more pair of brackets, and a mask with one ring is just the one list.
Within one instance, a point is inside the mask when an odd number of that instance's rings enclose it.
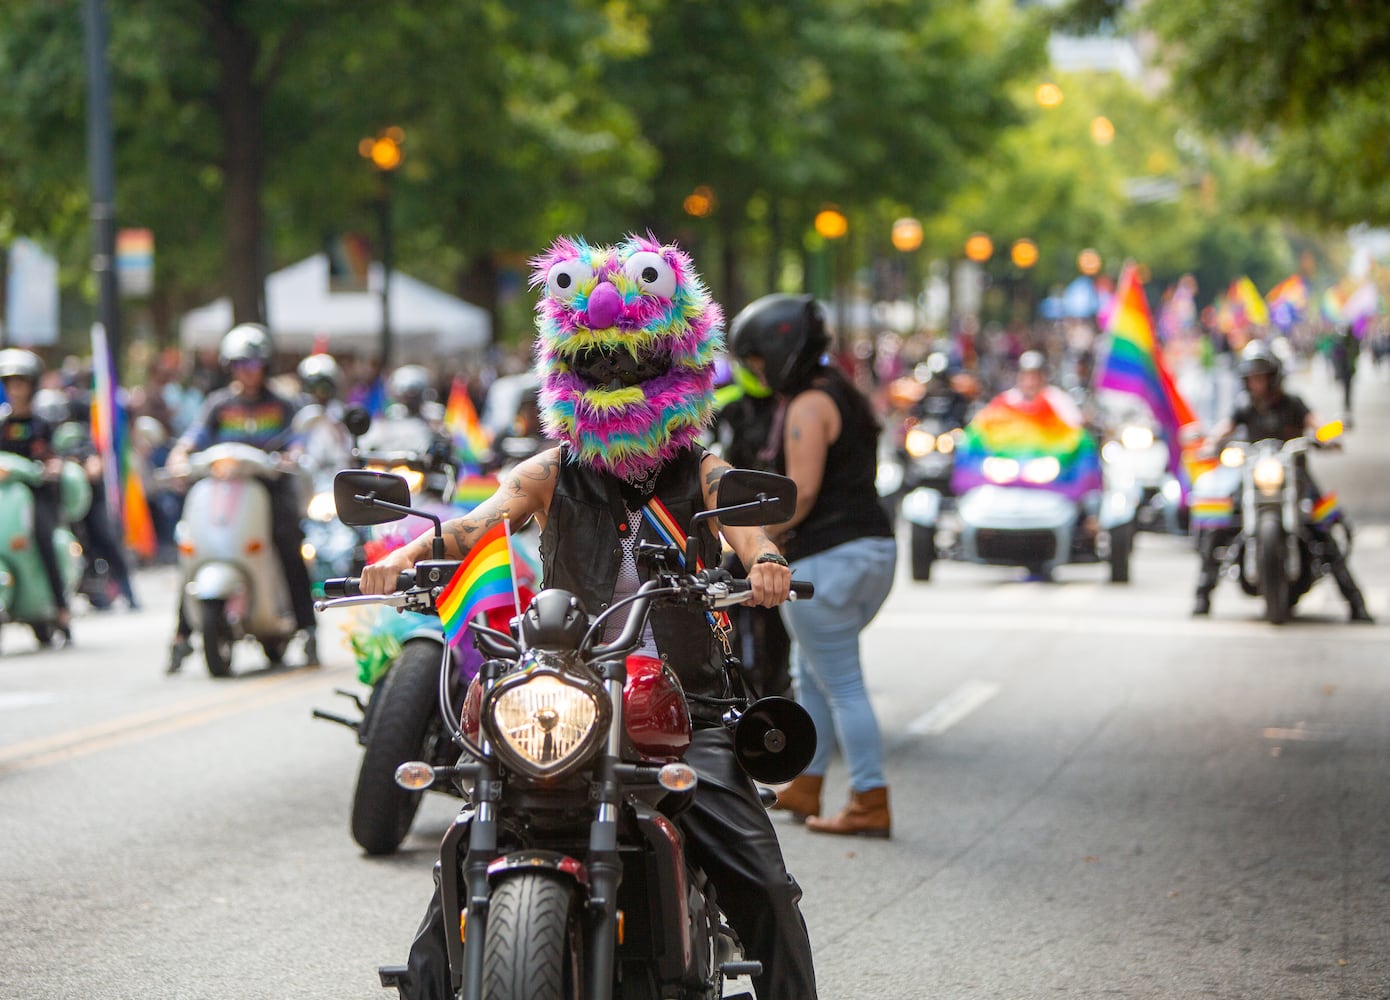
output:
{"label": "mint green scooter at the far left edge", "polygon": [[[49,577],[33,542],[33,492],[44,480],[43,466],[21,455],[0,452],[0,623],[26,624],[39,645],[53,643],[57,608]],[[53,534],[64,592],[82,579],[82,547],[70,526],[82,520],[92,503],[92,484],[75,462],[58,473],[63,526]]]}

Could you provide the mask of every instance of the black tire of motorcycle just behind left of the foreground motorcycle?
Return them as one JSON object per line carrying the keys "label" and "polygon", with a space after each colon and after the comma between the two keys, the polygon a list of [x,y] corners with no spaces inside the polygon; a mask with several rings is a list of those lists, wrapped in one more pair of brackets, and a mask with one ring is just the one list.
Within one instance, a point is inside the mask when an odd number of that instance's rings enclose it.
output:
{"label": "black tire of motorcycle just behind left of the foreground motorcycle", "polygon": [[352,804],[352,836],[367,854],[391,854],[410,833],[423,791],[396,784],[396,768],[430,759],[439,719],[439,659],[435,643],[406,643],[373,695],[357,790]]}

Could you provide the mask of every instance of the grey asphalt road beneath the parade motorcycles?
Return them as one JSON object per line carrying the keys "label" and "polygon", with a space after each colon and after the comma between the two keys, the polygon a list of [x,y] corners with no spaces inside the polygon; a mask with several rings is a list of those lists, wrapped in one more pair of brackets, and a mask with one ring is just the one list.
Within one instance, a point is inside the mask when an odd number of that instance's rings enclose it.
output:
{"label": "grey asphalt road beneath the parade motorcycles", "polygon": [[[1390,622],[1390,373],[1359,396],[1315,469]],[[1179,538],[1133,572],[899,581],[865,640],[894,839],[776,821],[823,997],[1390,997],[1390,627],[1330,581],[1282,629],[1229,583],[1193,620]],[[343,618],[321,669],[165,677],[174,580],[139,584],[72,650],[4,629],[0,997],[388,996],[453,809],[391,860],[352,843],[356,741],[310,719],[354,686]]]}

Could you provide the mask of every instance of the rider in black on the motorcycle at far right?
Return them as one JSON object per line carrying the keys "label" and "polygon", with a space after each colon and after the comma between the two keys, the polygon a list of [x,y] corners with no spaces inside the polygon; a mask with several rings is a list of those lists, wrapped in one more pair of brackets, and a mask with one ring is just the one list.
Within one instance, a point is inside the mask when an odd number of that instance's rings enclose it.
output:
{"label": "rider in black on the motorcycle at far right", "polygon": [[[1237,373],[1244,384],[1244,392],[1236,399],[1236,409],[1227,420],[1218,424],[1211,434],[1212,451],[1220,452],[1232,439],[1237,428],[1244,428],[1244,437],[1250,441],[1291,441],[1318,428],[1318,421],[1312,416],[1308,405],[1283,387],[1283,364],[1279,357],[1265,345],[1264,341],[1251,341],[1240,352]],[[1298,466],[1298,488],[1304,498],[1316,501],[1322,491],[1308,473],[1305,465]],[[1352,622],[1373,622],[1366,611],[1365,598],[1361,588],[1351,576],[1347,566],[1347,556],[1337,545],[1330,533],[1318,531],[1320,542],[1326,547],[1327,562],[1332,566],[1332,576],[1337,581],[1337,588],[1347,599],[1351,609]],[[1212,606],[1212,591],[1216,588],[1218,573],[1220,572],[1216,558],[1215,533],[1204,531],[1198,537],[1198,555],[1201,556],[1201,572],[1197,577],[1197,599],[1193,605],[1193,615],[1209,615]]]}

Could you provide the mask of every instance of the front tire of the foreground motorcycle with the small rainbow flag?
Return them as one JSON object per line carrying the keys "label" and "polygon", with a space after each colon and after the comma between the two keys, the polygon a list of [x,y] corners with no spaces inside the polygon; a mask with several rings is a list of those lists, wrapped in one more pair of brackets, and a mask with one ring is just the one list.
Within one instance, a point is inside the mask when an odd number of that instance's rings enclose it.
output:
{"label": "front tire of the foreground motorcycle with the small rainbow flag", "polygon": [[574,883],[521,872],[492,890],[484,1000],[577,1000],[581,946]]}

